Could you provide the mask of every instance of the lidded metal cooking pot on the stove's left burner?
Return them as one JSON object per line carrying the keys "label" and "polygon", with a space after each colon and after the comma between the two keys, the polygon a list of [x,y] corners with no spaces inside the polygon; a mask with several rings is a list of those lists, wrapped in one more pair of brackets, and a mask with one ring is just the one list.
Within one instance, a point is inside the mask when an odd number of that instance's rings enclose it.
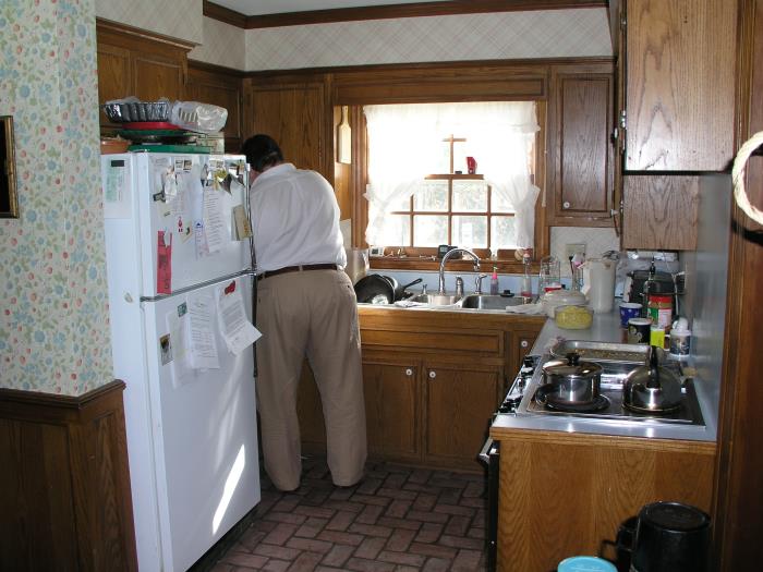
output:
{"label": "lidded metal cooking pot on the stove's left burner", "polygon": [[552,387],[557,403],[583,405],[598,398],[602,384],[602,366],[581,362],[580,354],[568,353],[561,360],[552,360],[543,366],[544,384]]}

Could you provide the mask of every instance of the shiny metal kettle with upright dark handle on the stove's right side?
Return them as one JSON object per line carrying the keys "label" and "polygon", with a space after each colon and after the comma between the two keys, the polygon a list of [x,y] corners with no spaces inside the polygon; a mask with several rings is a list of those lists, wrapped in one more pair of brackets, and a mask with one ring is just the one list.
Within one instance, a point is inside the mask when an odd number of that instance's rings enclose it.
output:
{"label": "shiny metal kettle with upright dark handle on the stove's right side", "polygon": [[622,405],[639,413],[670,413],[681,406],[681,380],[659,365],[657,348],[652,345],[647,364],[626,377]]}

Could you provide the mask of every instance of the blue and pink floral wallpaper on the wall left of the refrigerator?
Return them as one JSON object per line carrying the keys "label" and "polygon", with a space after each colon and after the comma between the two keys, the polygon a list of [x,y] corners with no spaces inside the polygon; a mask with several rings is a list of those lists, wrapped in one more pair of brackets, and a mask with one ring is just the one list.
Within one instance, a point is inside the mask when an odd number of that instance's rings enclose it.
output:
{"label": "blue and pink floral wallpaper on the wall left of the refrigerator", "polygon": [[0,37],[20,210],[0,219],[0,387],[77,395],[111,379],[94,0],[2,0]]}

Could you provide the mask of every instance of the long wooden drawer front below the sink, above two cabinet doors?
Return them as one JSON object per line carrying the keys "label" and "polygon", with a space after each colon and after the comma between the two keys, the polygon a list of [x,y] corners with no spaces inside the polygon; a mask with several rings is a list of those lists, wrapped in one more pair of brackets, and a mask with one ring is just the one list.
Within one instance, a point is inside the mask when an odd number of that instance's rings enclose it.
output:
{"label": "long wooden drawer front below the sink, above two cabinet doors", "polygon": [[501,356],[504,336],[500,331],[421,332],[361,330],[363,348],[393,348],[416,351],[441,351]]}

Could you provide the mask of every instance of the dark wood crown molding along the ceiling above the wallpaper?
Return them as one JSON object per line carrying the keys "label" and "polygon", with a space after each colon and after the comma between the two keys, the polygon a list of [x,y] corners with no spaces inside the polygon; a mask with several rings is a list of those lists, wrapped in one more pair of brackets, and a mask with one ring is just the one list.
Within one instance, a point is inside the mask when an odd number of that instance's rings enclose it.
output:
{"label": "dark wood crown molding along the ceiling above the wallpaper", "polygon": [[233,26],[254,29],[365,20],[606,7],[606,0],[451,0],[448,2],[415,2],[411,4],[338,8],[246,16],[205,0],[204,15]]}

